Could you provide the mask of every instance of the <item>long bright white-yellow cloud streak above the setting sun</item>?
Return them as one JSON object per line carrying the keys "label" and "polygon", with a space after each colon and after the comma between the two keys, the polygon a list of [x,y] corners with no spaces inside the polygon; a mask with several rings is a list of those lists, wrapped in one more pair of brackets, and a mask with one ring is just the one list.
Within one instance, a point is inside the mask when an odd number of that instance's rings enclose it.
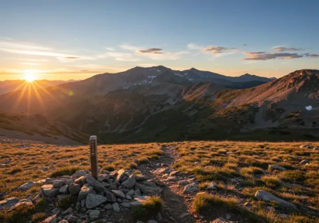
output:
{"label": "long bright white-yellow cloud streak above the setting sun", "polygon": [[73,55],[68,52],[54,50],[49,47],[32,45],[30,43],[12,43],[7,41],[0,41],[0,51],[13,53],[13,54],[25,54],[35,56],[47,56],[56,57],[60,61],[61,58],[77,58],[82,60],[94,60],[95,58],[89,56]]}

